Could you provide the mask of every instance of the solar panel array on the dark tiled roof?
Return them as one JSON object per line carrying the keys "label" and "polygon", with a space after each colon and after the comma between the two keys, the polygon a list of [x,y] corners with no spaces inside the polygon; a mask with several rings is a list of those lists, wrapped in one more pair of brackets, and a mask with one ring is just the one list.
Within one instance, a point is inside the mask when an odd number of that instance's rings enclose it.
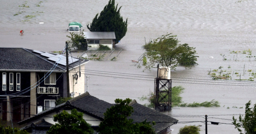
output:
{"label": "solar panel array on the dark tiled roof", "polygon": [[[47,60],[51,60],[51,61],[54,61],[58,64],[66,66],[66,56],[62,56],[60,54],[56,54],[56,55],[55,54],[50,54],[48,52],[41,52],[41,51],[38,51],[38,50],[33,50],[32,52],[35,52],[35,53],[40,54],[41,56],[47,57]],[[77,58],[68,57],[68,64],[72,64],[74,62],[77,62],[78,60],[79,59],[77,59]]]}

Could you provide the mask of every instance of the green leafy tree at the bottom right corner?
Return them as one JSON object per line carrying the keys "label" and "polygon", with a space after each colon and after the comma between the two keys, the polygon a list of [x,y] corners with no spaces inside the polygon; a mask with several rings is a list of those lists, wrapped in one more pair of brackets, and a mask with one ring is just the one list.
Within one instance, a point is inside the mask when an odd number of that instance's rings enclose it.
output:
{"label": "green leafy tree at the bottom right corner", "polygon": [[239,122],[237,119],[233,116],[232,122],[235,126],[235,128],[242,133],[241,128],[244,128],[244,134],[256,134],[256,104],[254,104],[253,108],[250,108],[251,101],[245,104],[245,115],[239,116]]}

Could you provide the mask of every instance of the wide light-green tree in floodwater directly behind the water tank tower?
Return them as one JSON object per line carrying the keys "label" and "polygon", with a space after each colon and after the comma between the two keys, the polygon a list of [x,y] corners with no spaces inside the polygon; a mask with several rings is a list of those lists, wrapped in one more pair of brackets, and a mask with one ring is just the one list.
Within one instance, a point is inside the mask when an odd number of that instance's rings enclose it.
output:
{"label": "wide light-green tree in floodwater directly behind the water tank tower", "polygon": [[150,69],[157,63],[161,66],[170,66],[172,70],[176,69],[179,64],[185,67],[191,67],[197,64],[196,50],[189,47],[188,44],[178,44],[180,41],[171,36],[171,34],[162,35],[143,47],[149,61],[146,68]]}

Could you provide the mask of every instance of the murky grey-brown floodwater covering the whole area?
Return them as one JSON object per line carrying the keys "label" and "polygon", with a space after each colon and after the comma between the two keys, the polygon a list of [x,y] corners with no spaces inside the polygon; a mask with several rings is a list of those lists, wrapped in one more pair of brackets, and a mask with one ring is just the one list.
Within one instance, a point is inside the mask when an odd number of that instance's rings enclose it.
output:
{"label": "murky grey-brown floodwater covering the whole area", "polygon": [[[88,31],[86,24],[107,3],[108,0],[2,0],[0,46],[61,51],[68,40],[68,23],[80,22],[82,29]],[[86,64],[89,93],[110,103],[116,98],[147,103],[139,98],[154,91],[156,69],[143,72],[143,66],[137,68],[132,60],[144,53],[141,46],[145,40],[173,33],[181,44],[195,47],[199,58],[192,69],[178,67],[171,72],[172,86],[185,88],[181,95],[185,103],[217,100],[220,107],[177,107],[164,112],[179,120],[171,126],[172,134],[185,125],[201,125],[200,133],[205,133],[206,114],[208,121],[223,123],[208,122],[209,134],[239,134],[232,125],[232,116],[244,114],[249,100],[256,103],[255,82],[247,80],[253,80],[252,73],[256,71],[256,0],[116,0],[117,3],[122,6],[121,16],[128,18],[126,36],[116,45],[116,50],[122,51],[116,61],[92,60]],[[24,30],[22,36],[20,30]],[[244,50],[246,54],[242,54]],[[222,74],[230,73],[232,80],[212,80],[208,75],[208,71],[218,74],[220,70]]]}

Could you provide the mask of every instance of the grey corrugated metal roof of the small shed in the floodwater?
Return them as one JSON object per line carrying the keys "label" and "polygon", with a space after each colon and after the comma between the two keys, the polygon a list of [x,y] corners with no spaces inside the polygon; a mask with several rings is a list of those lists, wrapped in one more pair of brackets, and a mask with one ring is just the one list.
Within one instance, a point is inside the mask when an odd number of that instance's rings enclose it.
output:
{"label": "grey corrugated metal roof of the small shed in the floodwater", "polygon": [[116,39],[115,32],[84,32],[86,39]]}

